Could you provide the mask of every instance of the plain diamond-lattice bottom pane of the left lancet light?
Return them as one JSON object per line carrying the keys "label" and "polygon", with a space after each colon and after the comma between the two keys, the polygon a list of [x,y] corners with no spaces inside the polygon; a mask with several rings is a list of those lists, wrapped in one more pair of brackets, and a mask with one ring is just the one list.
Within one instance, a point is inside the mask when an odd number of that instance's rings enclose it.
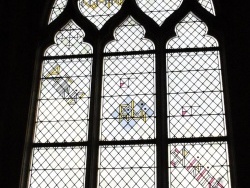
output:
{"label": "plain diamond-lattice bottom pane of the left lancet light", "polygon": [[30,172],[30,188],[83,188],[86,148],[35,148]]}

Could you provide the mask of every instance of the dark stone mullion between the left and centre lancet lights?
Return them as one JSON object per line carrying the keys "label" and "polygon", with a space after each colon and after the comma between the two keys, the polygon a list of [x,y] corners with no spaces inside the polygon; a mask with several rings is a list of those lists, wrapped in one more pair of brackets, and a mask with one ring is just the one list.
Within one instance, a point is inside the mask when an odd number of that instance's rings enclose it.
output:
{"label": "dark stone mullion between the left and centre lancet lights", "polygon": [[[97,42],[96,42],[97,44]],[[91,87],[91,104],[89,120],[89,144],[87,147],[87,168],[85,187],[97,187],[97,169],[98,169],[98,142],[99,142],[99,124],[100,124],[100,105],[102,88],[102,67],[103,67],[103,49],[100,45],[93,46],[93,81]]]}

